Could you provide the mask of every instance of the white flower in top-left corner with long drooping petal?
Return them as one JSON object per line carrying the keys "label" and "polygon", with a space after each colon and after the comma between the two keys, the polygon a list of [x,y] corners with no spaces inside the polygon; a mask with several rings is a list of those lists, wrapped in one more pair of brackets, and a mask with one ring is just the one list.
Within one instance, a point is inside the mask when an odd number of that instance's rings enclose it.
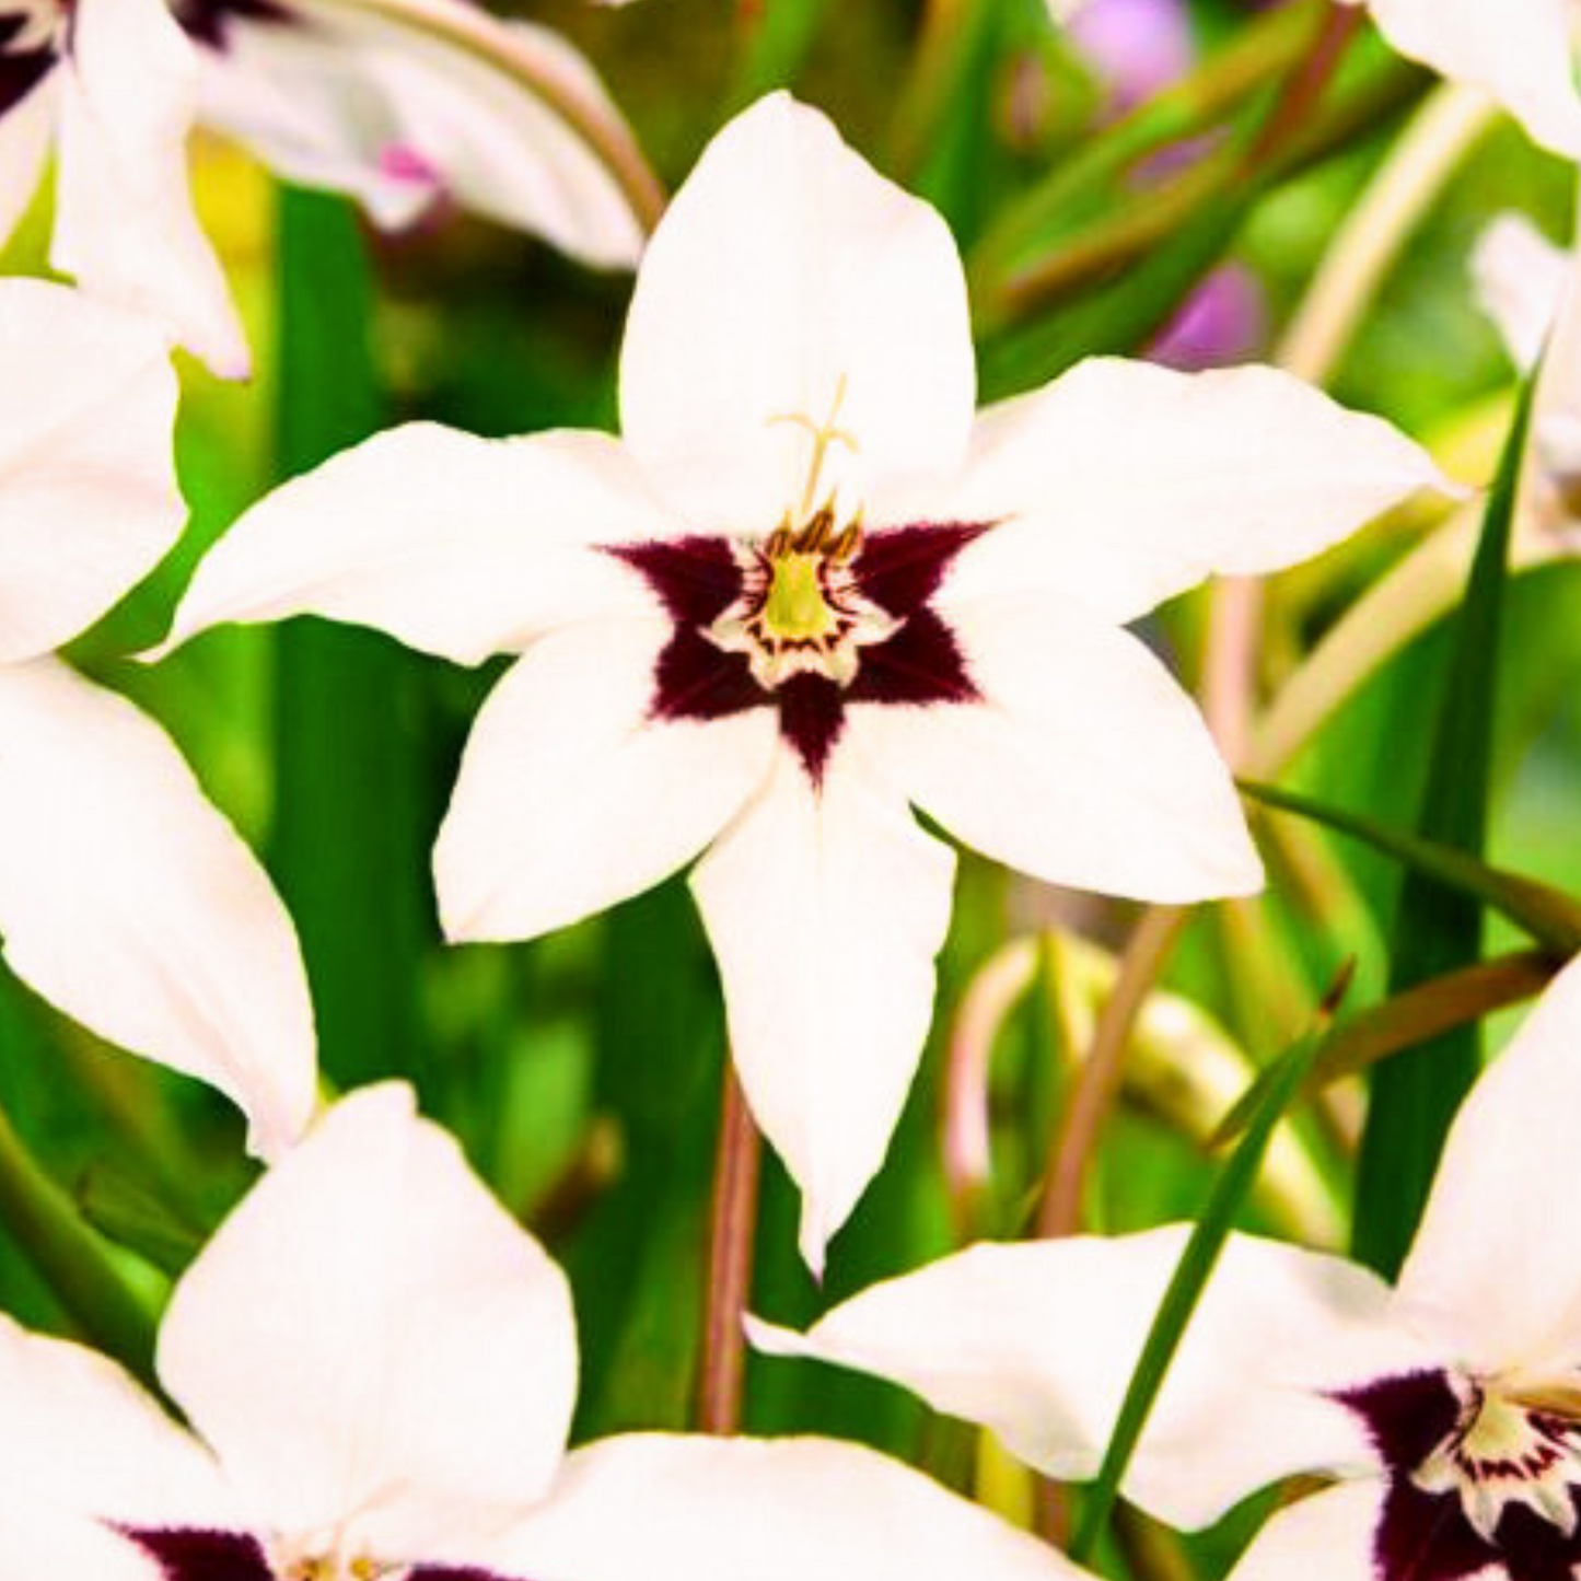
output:
{"label": "white flower in top-left corner with long drooping petal", "polygon": [[245,378],[242,326],[187,188],[196,77],[164,0],[0,0],[0,240],[54,142],[51,264]]}

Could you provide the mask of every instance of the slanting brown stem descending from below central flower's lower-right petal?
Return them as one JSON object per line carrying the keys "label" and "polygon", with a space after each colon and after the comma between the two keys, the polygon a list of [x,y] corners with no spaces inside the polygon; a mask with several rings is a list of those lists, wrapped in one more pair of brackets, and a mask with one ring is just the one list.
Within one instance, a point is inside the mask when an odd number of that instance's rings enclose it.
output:
{"label": "slanting brown stem descending from below central flower's lower-right petal", "polygon": [[1037,1214],[1037,1233],[1042,1236],[1073,1235],[1081,1228],[1086,1178],[1119,1092],[1130,1029],[1186,925],[1186,915],[1183,906],[1151,906],[1119,957],[1115,991],[1099,1012],[1092,1043],[1061,1118]]}

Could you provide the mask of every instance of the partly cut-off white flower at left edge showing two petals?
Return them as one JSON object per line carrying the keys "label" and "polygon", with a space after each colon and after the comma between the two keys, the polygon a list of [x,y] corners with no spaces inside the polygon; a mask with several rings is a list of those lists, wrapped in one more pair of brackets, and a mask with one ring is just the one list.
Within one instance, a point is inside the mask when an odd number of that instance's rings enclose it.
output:
{"label": "partly cut-off white flower at left edge showing two petals", "polygon": [[232,1097],[267,1156],[313,1108],[291,922],[164,732],[51,651],[180,536],[175,397],[149,319],[0,281],[0,938],[60,1009]]}

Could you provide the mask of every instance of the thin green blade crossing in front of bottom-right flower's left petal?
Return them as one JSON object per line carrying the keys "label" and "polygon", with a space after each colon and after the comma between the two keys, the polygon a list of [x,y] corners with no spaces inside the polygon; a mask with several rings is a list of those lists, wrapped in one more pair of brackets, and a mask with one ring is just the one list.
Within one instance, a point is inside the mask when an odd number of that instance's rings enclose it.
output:
{"label": "thin green blade crossing in front of bottom-right flower's left petal", "polygon": [[1141,1437],[1141,1429],[1148,1424],[1153,1404],[1164,1385],[1164,1375],[1175,1360],[1181,1336],[1190,1322],[1197,1303],[1213,1276],[1235,1216],[1241,1211],[1247,1194],[1257,1181],[1263,1154],[1273,1140],[1274,1126],[1279,1124],[1285,1110],[1295,1100],[1301,1083],[1317,1061],[1328,1040],[1328,1024],[1333,1007],[1349,983],[1349,971],[1339,979],[1319,1010],[1317,1024],[1298,1042],[1292,1043],[1273,1066],[1270,1080],[1258,1097],[1255,1113],[1246,1127],[1228,1162],[1219,1172],[1219,1178],[1208,1192],[1202,1216],[1192,1227],[1186,1251],[1170,1277],[1164,1300],[1159,1303],[1157,1315],[1148,1330],[1146,1342],[1141,1347],[1141,1358],[1130,1375],[1126,1398],[1115,1420],[1115,1432],[1104,1451],[1104,1462],[1099,1467],[1097,1480],[1092,1485],[1081,1507],[1081,1523],[1070,1543],[1070,1557],[1077,1564],[1085,1564],[1092,1556],[1097,1540],[1108,1523],[1119,1497],[1119,1485],[1126,1477],[1126,1467]]}

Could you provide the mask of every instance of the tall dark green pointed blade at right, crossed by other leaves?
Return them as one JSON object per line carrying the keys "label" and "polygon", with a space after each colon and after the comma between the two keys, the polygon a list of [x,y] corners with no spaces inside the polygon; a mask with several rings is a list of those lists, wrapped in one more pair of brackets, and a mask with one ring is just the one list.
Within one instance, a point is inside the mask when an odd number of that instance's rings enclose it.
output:
{"label": "tall dark green pointed blade at right, crossed by other leaves", "polygon": [[[1499,631],[1510,523],[1515,515],[1537,375],[1527,381],[1488,498],[1466,599],[1450,631],[1450,651],[1417,832],[1475,855],[1488,824]],[[1410,868],[1401,882],[1390,950],[1396,991],[1475,961],[1481,953],[1481,896]],[[1548,941],[1545,941],[1548,942]],[[1562,953],[1573,953],[1575,942]],[[1477,1080],[1477,1028],[1462,1024],[1372,1072],[1368,1123],[1356,1172],[1352,1251],[1393,1277],[1421,1219],[1443,1138]]]}

